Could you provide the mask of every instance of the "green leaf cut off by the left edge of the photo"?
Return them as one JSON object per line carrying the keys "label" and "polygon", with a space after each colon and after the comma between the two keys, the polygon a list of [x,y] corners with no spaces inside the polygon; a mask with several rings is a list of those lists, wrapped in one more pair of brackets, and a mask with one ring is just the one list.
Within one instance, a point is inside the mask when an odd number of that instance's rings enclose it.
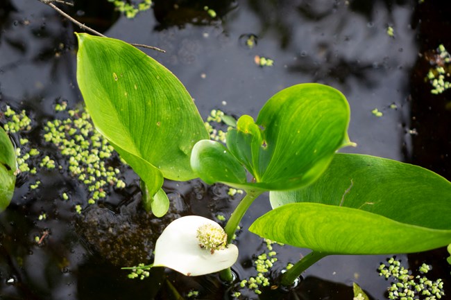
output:
{"label": "green leaf cut off by the left edge of the photo", "polygon": [[8,134],[0,127],[0,212],[11,202],[16,182],[17,161]]}

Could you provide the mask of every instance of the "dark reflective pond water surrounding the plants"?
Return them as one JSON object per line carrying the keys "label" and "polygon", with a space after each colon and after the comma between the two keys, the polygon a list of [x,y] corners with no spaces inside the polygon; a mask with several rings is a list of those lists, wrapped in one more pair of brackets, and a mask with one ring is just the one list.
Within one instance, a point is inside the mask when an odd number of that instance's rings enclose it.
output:
{"label": "dark reflective pond water surrounding the plants", "polygon": [[[210,17],[204,6],[217,17]],[[341,90],[350,102],[349,134],[358,147],[346,151],[411,162],[451,179],[450,92],[432,95],[424,80],[434,49],[439,44],[451,49],[451,9],[445,1],[155,1],[152,10],[133,20],[114,12],[106,0],[77,1],[65,10],[109,37],[164,48],[167,53],[145,52],[180,78],[204,118],[212,109],[255,117],[280,89],[322,82]],[[387,35],[388,26],[394,37]],[[80,28],[34,0],[0,1],[0,27],[0,107],[30,112],[34,129],[28,139],[39,143],[44,122],[55,118],[55,103],[83,103],[73,35]],[[246,46],[250,35],[257,41],[253,48]],[[258,67],[255,55],[271,58],[273,67]],[[382,117],[372,114],[375,108]],[[51,145],[42,147],[64,160]],[[139,281],[119,270],[134,258],[146,262],[143,249],[151,249],[153,235],[164,226],[164,221],[137,212],[137,178],[126,168],[122,171],[128,188],[110,191],[108,200],[81,215],[74,205],[85,203],[87,192],[69,175],[42,173],[36,191],[28,190],[35,177],[19,180],[12,204],[0,215],[0,299],[178,299],[173,290],[180,297],[199,290],[198,299],[232,298],[236,286],[223,285],[216,275],[187,278],[157,268],[150,279]],[[238,202],[226,195],[226,187],[198,180],[164,187],[174,203],[169,220],[177,214],[228,215]],[[71,191],[73,199],[60,200],[62,191]],[[262,241],[246,229],[269,209],[262,195],[241,223],[235,265],[240,279],[256,275],[252,256],[264,251]],[[38,220],[43,212],[46,220]],[[122,230],[121,224],[139,229]],[[37,245],[35,236],[45,232],[49,236]],[[148,244],[130,250],[128,244],[145,236]],[[308,253],[276,248],[283,264],[275,266],[275,274]],[[445,256],[445,249],[438,249],[398,258],[412,270],[423,262],[432,264],[430,277],[441,277],[451,294]],[[264,290],[260,298],[352,299],[352,282],[357,282],[372,299],[386,299],[389,282],[376,271],[385,258],[330,256],[307,270],[297,288]],[[258,298],[241,292],[241,299]]]}

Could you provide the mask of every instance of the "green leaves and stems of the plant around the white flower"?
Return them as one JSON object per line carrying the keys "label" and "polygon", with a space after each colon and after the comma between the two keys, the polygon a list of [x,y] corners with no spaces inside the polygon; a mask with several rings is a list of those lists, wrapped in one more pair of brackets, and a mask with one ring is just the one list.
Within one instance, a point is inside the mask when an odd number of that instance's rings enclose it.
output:
{"label": "green leaves and stems of the plant around the white flower", "polygon": [[[312,249],[282,275],[284,285],[330,254],[411,253],[451,242],[450,182],[398,161],[336,154],[355,145],[347,133],[348,101],[337,89],[315,83],[283,89],[256,121],[241,116],[223,145],[208,139],[185,87],[158,62],[117,39],[77,36],[86,107],[142,178],[144,205],[155,215],[169,202],[163,178],[200,177],[241,189],[246,195],[224,228],[230,244],[250,204],[270,191],[273,210],[250,231]],[[222,277],[231,280],[230,270]]]}

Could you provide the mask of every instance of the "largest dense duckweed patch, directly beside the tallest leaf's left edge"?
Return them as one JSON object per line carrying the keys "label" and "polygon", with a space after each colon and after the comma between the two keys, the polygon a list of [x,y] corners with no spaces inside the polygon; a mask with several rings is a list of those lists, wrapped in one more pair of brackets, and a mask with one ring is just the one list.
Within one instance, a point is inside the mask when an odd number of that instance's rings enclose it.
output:
{"label": "largest dense duckweed patch, directly beside the tallest leaf's left edge", "polygon": [[[57,106],[58,107],[58,106]],[[63,107],[58,107],[61,111]],[[68,157],[69,172],[87,186],[91,197],[88,204],[106,197],[104,188],[116,186],[124,188],[125,183],[117,178],[118,168],[106,166],[105,159],[112,156],[114,148],[94,129],[87,112],[69,110],[70,118],[48,121],[44,127],[44,139],[53,143],[61,155]],[[44,157],[40,166],[55,168],[55,162]],[[67,198],[63,195],[63,199]]]}

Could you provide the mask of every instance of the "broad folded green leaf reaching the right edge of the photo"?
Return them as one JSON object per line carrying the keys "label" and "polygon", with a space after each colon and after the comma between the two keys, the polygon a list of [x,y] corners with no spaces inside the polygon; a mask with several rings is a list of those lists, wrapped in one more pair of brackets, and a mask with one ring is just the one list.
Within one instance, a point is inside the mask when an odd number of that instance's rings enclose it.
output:
{"label": "broad folded green leaf reaching the right edge of the photo", "polygon": [[390,159],[337,154],[314,184],[270,198],[277,208],[250,231],[297,247],[393,254],[451,242],[451,183]]}

